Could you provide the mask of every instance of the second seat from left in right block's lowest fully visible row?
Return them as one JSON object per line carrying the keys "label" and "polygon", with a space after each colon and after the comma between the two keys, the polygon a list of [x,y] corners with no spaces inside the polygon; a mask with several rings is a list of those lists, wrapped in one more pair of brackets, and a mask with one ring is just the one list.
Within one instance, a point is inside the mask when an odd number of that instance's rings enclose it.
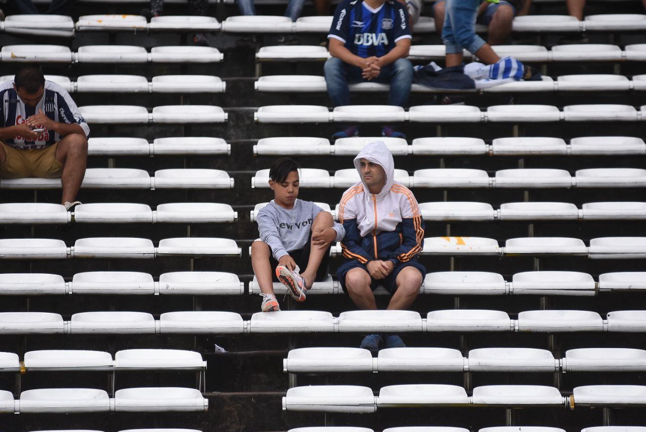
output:
{"label": "second seat from left in right block's lowest fully visible row", "polygon": [[466,405],[469,398],[459,385],[402,384],[381,387],[377,407]]}

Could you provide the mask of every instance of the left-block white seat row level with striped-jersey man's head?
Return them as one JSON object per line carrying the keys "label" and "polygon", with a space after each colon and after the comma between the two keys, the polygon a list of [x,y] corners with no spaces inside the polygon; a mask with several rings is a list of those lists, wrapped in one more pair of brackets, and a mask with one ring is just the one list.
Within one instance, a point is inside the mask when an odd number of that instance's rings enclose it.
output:
{"label": "left-block white seat row level with striped-jersey man's head", "polygon": [[[0,76],[0,82],[13,81],[14,75]],[[90,93],[224,93],[227,83],[211,75],[160,75],[148,82],[140,75],[83,75],[76,81],[67,76],[45,75],[45,80],[67,92]]]}

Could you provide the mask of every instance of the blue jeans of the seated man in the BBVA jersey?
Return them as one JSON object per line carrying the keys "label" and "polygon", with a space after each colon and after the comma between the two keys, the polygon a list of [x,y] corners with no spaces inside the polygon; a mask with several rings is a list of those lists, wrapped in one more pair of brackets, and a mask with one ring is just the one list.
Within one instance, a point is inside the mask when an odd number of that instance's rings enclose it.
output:
{"label": "blue jeans of the seated man in the BBVA jersey", "polygon": [[[350,105],[349,83],[366,82],[361,76],[361,69],[348,65],[340,58],[332,57],[325,62],[325,81],[328,84],[328,94],[333,107]],[[377,78],[372,81],[390,84],[388,105],[403,107],[410,96],[410,86],[413,83],[413,65],[410,60],[400,58],[381,68]]]}

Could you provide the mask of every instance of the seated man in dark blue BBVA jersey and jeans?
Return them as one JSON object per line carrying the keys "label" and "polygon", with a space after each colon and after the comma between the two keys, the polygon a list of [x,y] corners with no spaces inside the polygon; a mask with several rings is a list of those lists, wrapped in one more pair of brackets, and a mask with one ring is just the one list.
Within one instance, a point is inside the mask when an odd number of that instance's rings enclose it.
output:
{"label": "seated man in dark blue BBVA jersey and jeans", "polygon": [[[403,107],[408,102],[413,67],[406,58],[412,39],[406,6],[393,0],[344,0],[334,14],[328,34],[325,63],[328,94],[334,107],[350,104],[348,83],[389,83],[388,104]],[[332,138],[359,135],[349,126]],[[391,127],[384,136],[405,138]]]}

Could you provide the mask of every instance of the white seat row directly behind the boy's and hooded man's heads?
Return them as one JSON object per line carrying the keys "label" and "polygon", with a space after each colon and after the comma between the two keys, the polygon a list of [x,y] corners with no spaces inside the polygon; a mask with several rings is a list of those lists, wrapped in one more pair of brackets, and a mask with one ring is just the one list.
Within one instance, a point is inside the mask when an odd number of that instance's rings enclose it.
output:
{"label": "white seat row directly behind the boy's and hooded man's heads", "polygon": [[[590,168],[570,175],[565,169],[514,168],[496,171],[489,177],[483,169],[428,168],[409,175],[395,169],[395,180],[409,188],[643,188],[646,169]],[[251,188],[269,188],[269,169],[260,169],[251,177]],[[360,182],[354,168],[345,168],[329,175],[326,169],[301,168],[301,188],[349,188]],[[0,187],[2,182],[0,182]]]}

